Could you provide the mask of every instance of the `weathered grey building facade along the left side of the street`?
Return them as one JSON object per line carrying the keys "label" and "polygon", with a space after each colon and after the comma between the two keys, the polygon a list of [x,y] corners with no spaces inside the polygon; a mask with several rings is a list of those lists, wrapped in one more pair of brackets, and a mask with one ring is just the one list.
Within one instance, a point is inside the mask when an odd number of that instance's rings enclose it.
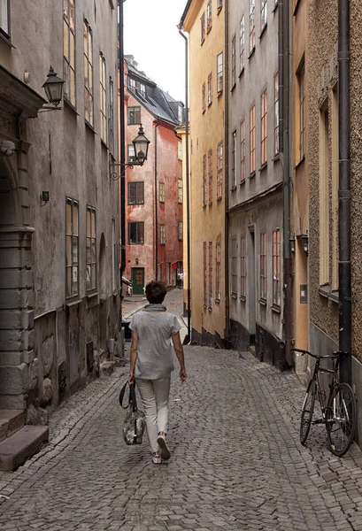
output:
{"label": "weathered grey building facade along the left side of the street", "polygon": [[[51,411],[117,346],[116,8],[0,3],[3,409]],[[57,112],[42,108],[50,65],[65,80]]]}

